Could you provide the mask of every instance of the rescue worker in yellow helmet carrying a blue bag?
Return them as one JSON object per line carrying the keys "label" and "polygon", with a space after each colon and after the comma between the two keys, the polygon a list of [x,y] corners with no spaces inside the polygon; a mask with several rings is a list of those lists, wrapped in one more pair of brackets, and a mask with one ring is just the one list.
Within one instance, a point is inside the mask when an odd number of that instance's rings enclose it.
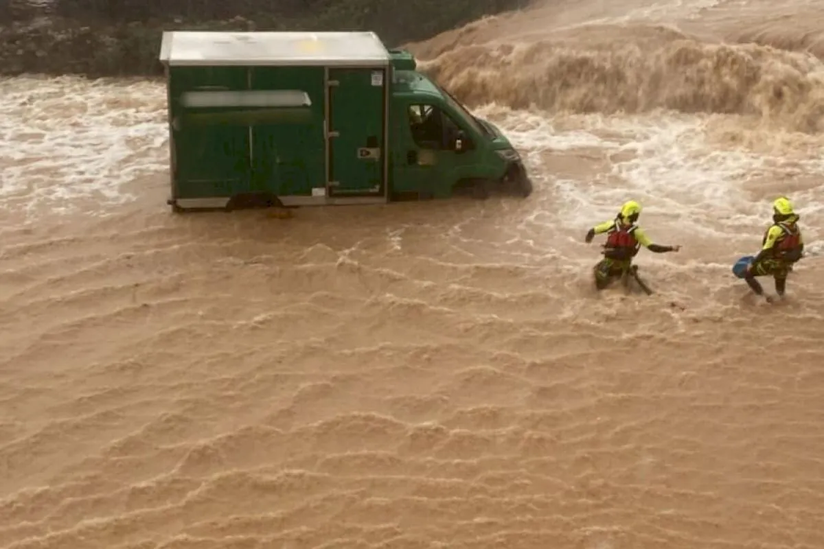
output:
{"label": "rescue worker in yellow helmet carrying a blue bag", "polygon": [[764,233],[761,240],[761,251],[747,265],[744,280],[756,295],[761,295],[768,303],[772,302],[769,295],[764,295],[764,289],[756,277],[773,277],[775,279],[775,293],[784,297],[787,289],[787,275],[793,270],[793,265],[802,258],[804,241],[801,228],[798,226],[798,216],[793,210],[789,198],[776,198],[773,202],[773,223]]}

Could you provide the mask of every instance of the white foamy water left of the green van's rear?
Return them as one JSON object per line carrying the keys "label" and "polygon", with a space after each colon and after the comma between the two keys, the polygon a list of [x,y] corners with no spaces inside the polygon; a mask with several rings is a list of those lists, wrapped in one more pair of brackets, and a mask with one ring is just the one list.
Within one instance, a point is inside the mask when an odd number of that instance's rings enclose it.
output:
{"label": "white foamy water left of the green van's rear", "polygon": [[103,210],[135,198],[124,184],[168,170],[162,85],[15,77],[0,95],[0,207]]}

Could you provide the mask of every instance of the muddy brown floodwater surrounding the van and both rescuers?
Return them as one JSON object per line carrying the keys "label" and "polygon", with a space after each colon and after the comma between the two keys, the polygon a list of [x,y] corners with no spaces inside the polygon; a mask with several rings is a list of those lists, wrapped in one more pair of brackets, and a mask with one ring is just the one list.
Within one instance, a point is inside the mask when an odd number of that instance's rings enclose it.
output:
{"label": "muddy brown floodwater surrounding the van and both rescuers", "polygon": [[[0,547],[824,547],[822,22],[560,0],[412,44],[535,192],[289,219],[169,212],[160,81],[0,81]],[[765,305],[730,268],[781,195]],[[683,246],[652,296],[592,287],[630,199]]]}

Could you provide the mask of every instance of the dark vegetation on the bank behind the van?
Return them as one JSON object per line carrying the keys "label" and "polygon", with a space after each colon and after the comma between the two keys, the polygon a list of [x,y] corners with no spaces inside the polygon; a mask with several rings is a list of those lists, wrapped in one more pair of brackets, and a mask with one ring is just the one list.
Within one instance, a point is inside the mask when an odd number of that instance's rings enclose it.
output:
{"label": "dark vegetation on the bank behind the van", "polygon": [[0,72],[152,76],[162,30],[374,30],[389,47],[526,0],[0,0]]}

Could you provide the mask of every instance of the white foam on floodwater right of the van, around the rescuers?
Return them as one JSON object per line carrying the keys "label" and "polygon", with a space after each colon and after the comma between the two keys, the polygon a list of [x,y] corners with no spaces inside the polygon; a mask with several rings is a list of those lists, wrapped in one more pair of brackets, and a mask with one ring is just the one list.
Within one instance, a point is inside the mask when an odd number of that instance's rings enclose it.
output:
{"label": "white foam on floodwater right of the van, around the rescuers", "polygon": [[[558,226],[558,212],[562,208],[564,226],[569,227],[566,240],[570,243],[581,240],[596,222],[615,216],[622,202],[636,199],[644,206],[642,225],[650,228],[653,240],[662,233],[693,242],[698,236],[737,257],[756,249],[772,214],[771,200],[756,200],[748,192],[747,184],[753,178],[787,170],[804,176],[824,176],[821,157],[799,161],[798,153],[791,157],[780,150],[764,154],[743,146],[719,147],[719,143],[712,141],[707,119],[700,116],[580,115],[570,122],[569,117],[539,112],[480,112],[495,119],[523,151],[536,179],[537,194],[540,195],[541,186],[552,190],[554,199],[527,215],[522,227],[543,226],[549,235]],[[559,129],[563,127],[574,129]],[[610,168],[594,176],[586,169],[581,170],[580,178],[566,172],[556,176],[541,165],[541,154],[546,151],[592,156],[593,148],[612,159]],[[815,227],[824,221],[824,185],[789,195],[806,221],[803,229],[808,251],[812,255],[820,253],[822,246]],[[554,249],[545,251],[555,253]],[[572,274],[592,263],[592,255],[565,261]],[[644,263],[666,266],[670,271],[707,268],[703,260],[685,260],[672,254],[647,254]],[[726,263],[719,263],[712,270],[728,269]]]}

